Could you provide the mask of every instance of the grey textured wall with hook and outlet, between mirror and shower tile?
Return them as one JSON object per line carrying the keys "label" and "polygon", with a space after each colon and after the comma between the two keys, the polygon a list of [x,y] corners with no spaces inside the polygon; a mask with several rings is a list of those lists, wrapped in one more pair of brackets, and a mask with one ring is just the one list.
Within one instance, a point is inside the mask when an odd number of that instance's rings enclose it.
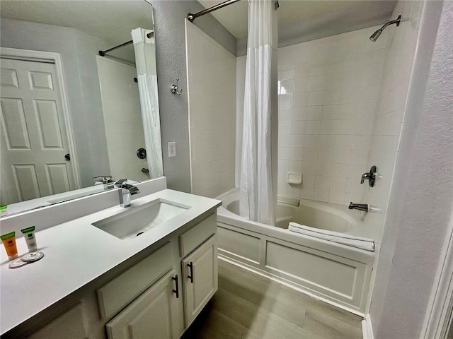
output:
{"label": "grey textured wall with hook and outlet, between mirror and shower tile", "polygon": [[[185,56],[185,23],[188,13],[202,11],[197,1],[148,0],[154,7],[156,30],[156,64],[159,79],[159,107],[164,160],[168,188],[190,192],[189,112]],[[197,18],[197,27],[212,35],[230,51],[236,39],[210,14]],[[179,78],[182,95],[173,95],[170,85]],[[168,142],[176,141],[176,157],[168,157]]]}

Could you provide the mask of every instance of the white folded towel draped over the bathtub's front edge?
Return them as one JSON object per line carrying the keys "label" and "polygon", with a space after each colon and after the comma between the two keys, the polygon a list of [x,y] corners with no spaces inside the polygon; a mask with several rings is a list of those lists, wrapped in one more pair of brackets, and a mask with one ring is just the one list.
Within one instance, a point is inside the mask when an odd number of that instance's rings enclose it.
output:
{"label": "white folded towel draped over the bathtub's front edge", "polygon": [[350,234],[320,230],[319,228],[300,225],[296,222],[289,222],[288,230],[306,234],[311,237],[328,240],[329,242],[337,242],[338,244],[357,247],[357,249],[374,251],[374,240],[369,238],[355,237]]}

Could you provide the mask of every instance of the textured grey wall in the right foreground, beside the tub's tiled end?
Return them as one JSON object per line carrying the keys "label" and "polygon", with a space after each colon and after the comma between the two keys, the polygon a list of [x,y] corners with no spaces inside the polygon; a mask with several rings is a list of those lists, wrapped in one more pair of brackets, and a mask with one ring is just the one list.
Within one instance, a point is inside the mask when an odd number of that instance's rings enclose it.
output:
{"label": "textured grey wall in the right foreground, beside the tub's tiled end", "polygon": [[440,16],[441,6],[426,1],[423,9],[370,309],[377,339],[419,338],[452,232],[453,3],[444,1]]}

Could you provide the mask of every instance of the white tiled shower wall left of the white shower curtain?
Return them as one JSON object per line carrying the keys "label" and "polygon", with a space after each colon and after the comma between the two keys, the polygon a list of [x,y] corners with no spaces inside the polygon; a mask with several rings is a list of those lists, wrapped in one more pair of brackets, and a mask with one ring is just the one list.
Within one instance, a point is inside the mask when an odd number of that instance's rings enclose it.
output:
{"label": "white tiled shower wall left of the white shower curtain", "polygon": [[234,188],[236,57],[186,24],[192,193]]}

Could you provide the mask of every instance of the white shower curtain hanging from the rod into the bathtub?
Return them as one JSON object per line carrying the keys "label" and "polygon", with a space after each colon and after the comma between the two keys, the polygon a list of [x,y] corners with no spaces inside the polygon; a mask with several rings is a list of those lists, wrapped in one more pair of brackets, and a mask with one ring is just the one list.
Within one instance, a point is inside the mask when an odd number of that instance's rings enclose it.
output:
{"label": "white shower curtain hanging from the rod into the bathtub", "polygon": [[239,212],[275,225],[271,162],[273,1],[248,0],[246,90]]}

